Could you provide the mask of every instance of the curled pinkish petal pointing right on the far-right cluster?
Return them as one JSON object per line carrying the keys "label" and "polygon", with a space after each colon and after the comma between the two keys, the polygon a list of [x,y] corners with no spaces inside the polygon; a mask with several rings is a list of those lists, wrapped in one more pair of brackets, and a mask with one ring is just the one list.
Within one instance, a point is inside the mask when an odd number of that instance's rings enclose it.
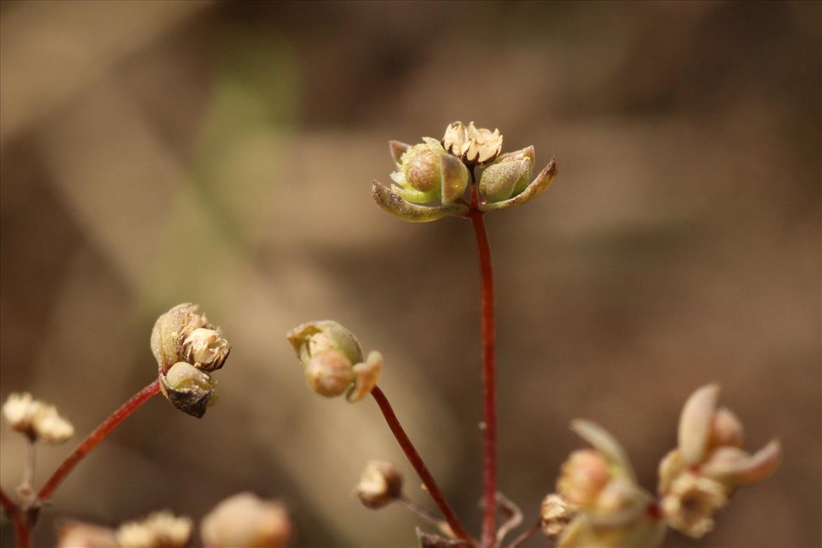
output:
{"label": "curled pinkish petal pointing right on the far-right cluster", "polygon": [[769,477],[781,457],[782,446],[778,440],[772,440],[752,455],[736,447],[720,447],[700,467],[700,472],[735,489]]}

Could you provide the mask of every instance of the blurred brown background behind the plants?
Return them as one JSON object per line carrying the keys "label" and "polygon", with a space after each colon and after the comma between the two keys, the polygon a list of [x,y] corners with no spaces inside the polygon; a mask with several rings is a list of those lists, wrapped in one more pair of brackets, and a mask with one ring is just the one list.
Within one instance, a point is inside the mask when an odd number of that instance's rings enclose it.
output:
{"label": "blurred brown background behind the plants", "polygon": [[[625,444],[646,486],[711,380],[775,476],[702,541],[820,546],[820,3],[2,2],[2,389],[77,439],[154,378],[157,315],[199,302],[233,343],[197,421],[155,398],[42,518],[200,518],[279,497],[299,546],[416,546],[351,498],[367,458],[413,472],[376,405],[322,400],[284,333],[332,317],[478,529],[478,274],[468,223],[369,197],[386,140],[499,127],[559,163],[488,218],[501,490],[530,522],[582,442]],[[0,479],[23,444],[2,427]],[[72,444],[40,452],[39,481]],[[11,546],[3,521],[3,546]],[[547,546],[541,536],[527,546]]]}

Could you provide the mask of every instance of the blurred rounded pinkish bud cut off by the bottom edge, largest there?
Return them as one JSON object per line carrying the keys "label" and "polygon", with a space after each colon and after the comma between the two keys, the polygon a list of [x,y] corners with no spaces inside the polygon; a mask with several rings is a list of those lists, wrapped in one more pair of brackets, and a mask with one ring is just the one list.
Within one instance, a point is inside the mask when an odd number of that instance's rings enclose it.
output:
{"label": "blurred rounded pinkish bud cut off by the bottom edge, largest there", "polygon": [[283,504],[239,493],[203,518],[200,534],[209,548],[281,548],[289,545],[293,527]]}

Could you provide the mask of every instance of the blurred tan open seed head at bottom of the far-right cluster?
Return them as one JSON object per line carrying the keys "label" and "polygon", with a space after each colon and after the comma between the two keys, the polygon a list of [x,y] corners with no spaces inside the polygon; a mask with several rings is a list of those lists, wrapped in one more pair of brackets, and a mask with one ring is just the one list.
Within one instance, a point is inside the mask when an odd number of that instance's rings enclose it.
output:
{"label": "blurred tan open seed head at bottom of the far-right cluster", "polygon": [[713,514],[727,504],[725,488],[718,481],[693,472],[681,474],[662,500],[667,524],[693,538],[713,529]]}

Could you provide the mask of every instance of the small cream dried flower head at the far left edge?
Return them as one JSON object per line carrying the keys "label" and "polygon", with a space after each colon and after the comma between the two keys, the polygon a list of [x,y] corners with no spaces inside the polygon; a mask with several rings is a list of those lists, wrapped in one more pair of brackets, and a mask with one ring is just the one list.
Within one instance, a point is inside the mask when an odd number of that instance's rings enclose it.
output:
{"label": "small cream dried flower head at the far left edge", "polygon": [[3,417],[12,430],[31,440],[60,444],[74,435],[72,423],[61,417],[53,405],[31,397],[31,394],[9,394],[2,406]]}

